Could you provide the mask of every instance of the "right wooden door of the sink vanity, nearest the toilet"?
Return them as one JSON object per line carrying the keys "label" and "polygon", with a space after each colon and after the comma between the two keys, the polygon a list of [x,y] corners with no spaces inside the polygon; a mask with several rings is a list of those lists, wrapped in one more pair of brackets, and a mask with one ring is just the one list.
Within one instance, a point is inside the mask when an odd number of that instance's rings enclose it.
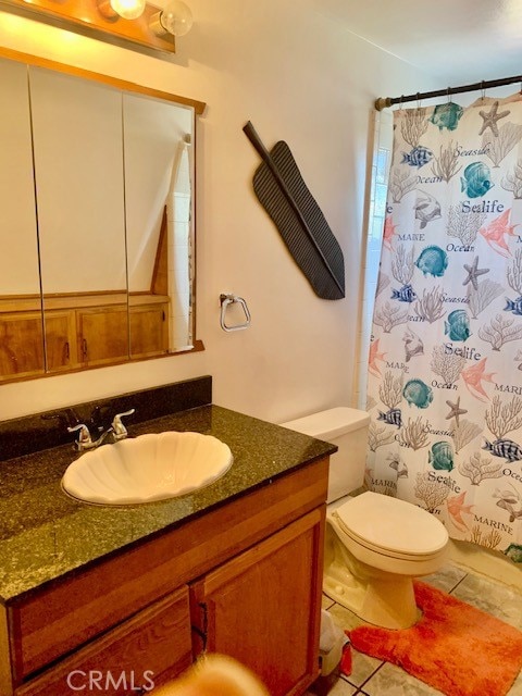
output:
{"label": "right wooden door of the sink vanity, nearest the toilet", "polygon": [[190,587],[195,654],[229,655],[272,696],[319,674],[324,510],[316,509]]}

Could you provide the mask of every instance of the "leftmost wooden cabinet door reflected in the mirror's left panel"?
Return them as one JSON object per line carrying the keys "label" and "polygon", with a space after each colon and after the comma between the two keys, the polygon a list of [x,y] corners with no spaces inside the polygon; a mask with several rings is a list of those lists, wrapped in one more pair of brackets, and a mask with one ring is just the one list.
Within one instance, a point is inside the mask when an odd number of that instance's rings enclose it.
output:
{"label": "leftmost wooden cabinet door reflected in the mirror's left panel", "polygon": [[1,377],[22,377],[40,373],[44,373],[41,313],[0,314]]}

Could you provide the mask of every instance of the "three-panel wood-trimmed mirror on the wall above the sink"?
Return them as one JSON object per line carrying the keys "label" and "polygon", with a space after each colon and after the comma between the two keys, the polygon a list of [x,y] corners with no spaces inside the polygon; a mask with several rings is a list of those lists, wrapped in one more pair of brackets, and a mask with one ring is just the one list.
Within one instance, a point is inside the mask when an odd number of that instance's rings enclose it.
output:
{"label": "three-panel wood-trimmed mirror on the wall above the sink", "polygon": [[0,381],[202,349],[204,104],[35,60],[0,58]]}

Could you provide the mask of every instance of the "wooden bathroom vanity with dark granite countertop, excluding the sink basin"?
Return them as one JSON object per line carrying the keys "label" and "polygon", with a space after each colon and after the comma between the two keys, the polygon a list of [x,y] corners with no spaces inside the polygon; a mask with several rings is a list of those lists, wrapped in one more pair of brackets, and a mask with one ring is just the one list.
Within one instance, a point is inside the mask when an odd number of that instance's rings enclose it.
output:
{"label": "wooden bathroom vanity with dark granite countertop, excluding the sink basin", "polygon": [[[150,415],[153,393],[114,406]],[[109,507],[61,489],[71,445],[0,462],[2,696],[147,693],[206,650],[249,666],[273,696],[318,676],[335,447],[211,403],[129,422],[132,436],[166,430],[214,435],[232,468],[179,498]]]}

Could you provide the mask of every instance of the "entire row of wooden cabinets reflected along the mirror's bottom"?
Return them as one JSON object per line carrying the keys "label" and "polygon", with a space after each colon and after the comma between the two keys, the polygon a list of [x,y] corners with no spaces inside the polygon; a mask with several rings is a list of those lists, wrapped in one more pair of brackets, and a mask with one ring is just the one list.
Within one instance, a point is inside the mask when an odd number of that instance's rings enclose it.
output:
{"label": "entire row of wooden cabinets reflected along the mirror's bottom", "polygon": [[0,298],[0,382],[167,352],[167,296]]}

